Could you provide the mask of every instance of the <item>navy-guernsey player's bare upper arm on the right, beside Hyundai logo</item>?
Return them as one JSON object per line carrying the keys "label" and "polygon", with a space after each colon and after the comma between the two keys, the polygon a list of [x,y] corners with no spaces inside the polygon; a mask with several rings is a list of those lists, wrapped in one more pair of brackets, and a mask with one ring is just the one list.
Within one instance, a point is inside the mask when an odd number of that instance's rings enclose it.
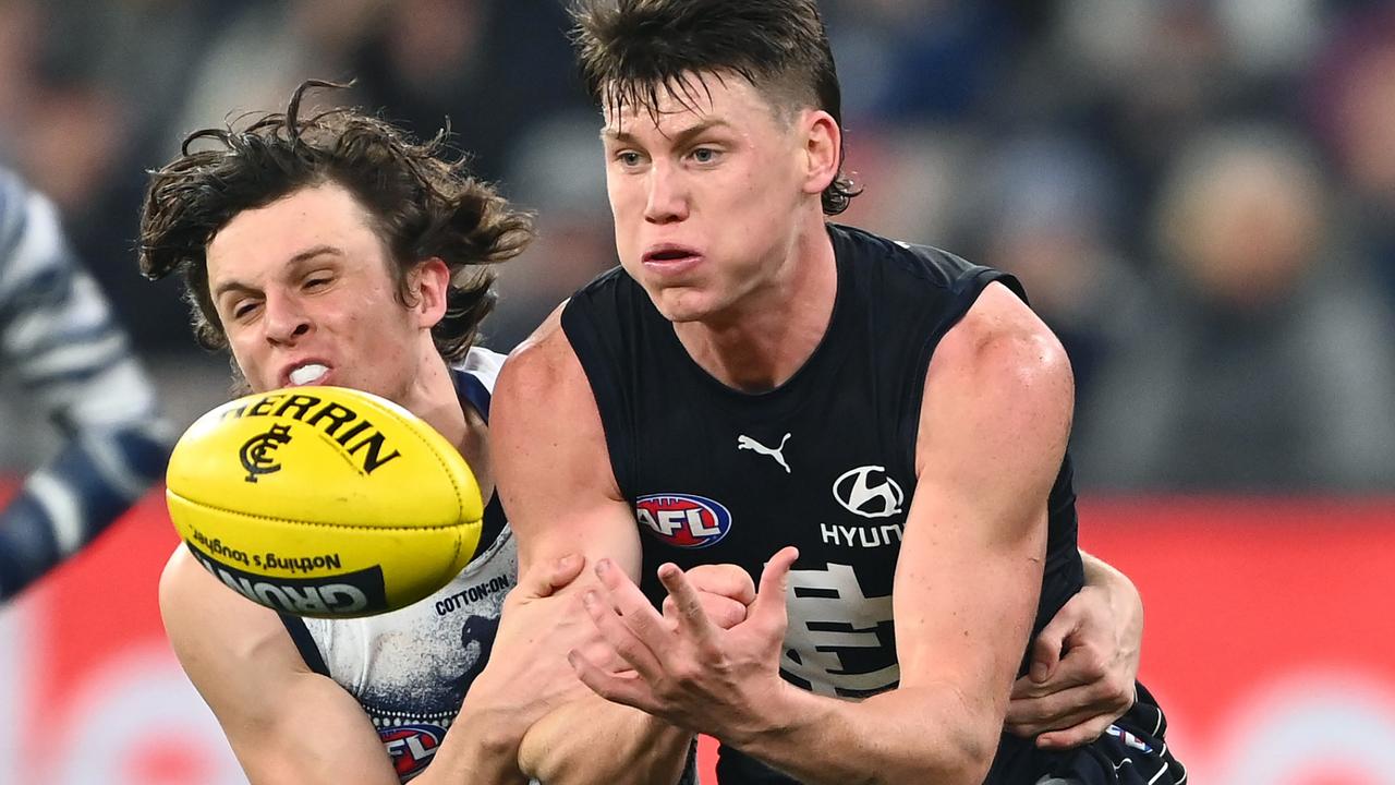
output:
{"label": "navy-guernsey player's bare upper arm on the right, beside Hyundai logo", "polygon": [[926,374],[893,594],[901,679],[951,679],[997,724],[1041,592],[1070,409],[1060,345],[1000,286],[946,335]]}

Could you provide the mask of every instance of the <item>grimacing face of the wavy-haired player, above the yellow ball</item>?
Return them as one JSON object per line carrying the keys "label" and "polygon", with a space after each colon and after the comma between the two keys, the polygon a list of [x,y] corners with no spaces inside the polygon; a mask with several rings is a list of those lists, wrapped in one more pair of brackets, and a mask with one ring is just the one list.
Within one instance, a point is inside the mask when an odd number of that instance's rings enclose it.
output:
{"label": "grimacing face of the wavy-haired player, above the yellow ball", "polygon": [[[338,184],[233,217],[208,244],[208,285],[251,388],[332,384],[409,404],[439,316],[403,305],[388,265],[368,214]],[[413,292],[420,278],[410,274]]]}

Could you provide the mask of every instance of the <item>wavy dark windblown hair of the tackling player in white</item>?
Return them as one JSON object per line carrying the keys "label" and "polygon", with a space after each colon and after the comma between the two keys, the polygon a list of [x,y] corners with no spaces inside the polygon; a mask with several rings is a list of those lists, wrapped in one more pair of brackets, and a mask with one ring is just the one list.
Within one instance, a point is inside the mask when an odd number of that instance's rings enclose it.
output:
{"label": "wavy dark windblown hair of the tackling player in white", "polygon": [[465,161],[449,161],[446,131],[418,142],[359,109],[300,116],[308,91],[347,87],[306,81],[285,112],[254,115],[240,130],[229,123],[194,131],[179,158],[151,172],[141,208],[141,272],[151,279],[183,274],[202,346],[227,346],[208,291],[208,243],[237,214],[325,183],[346,189],[371,215],[395,263],[399,302],[409,302],[407,271],[418,263],[439,257],[449,267],[446,313],[431,331],[448,362],[465,356],[494,309],[490,265],[523,250],[533,237],[531,217],[476,180]]}

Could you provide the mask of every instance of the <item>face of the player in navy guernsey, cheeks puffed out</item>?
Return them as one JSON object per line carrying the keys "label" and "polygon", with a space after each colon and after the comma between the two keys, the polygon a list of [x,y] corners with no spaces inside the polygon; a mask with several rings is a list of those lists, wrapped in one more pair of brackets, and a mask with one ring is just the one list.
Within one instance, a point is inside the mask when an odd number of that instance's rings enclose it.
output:
{"label": "face of the player in navy guernsey, cheeks puffed out", "polygon": [[822,190],[805,144],[813,110],[783,119],[745,78],[704,82],[692,81],[691,108],[660,91],[657,123],[626,106],[601,131],[621,264],[672,321],[739,313],[778,279]]}

